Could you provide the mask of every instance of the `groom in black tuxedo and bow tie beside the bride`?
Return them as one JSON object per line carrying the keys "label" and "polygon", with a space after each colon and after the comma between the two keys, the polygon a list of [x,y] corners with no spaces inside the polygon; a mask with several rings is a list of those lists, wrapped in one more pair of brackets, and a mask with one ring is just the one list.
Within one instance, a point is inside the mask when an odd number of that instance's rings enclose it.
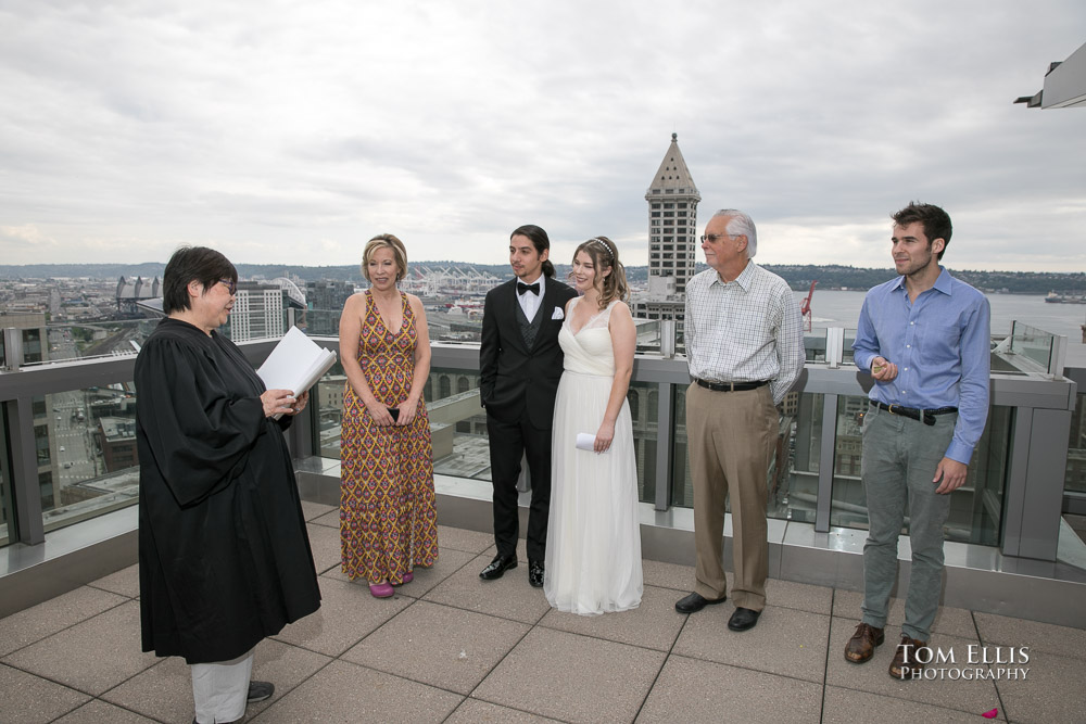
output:
{"label": "groom in black tuxedo and bow tie beside the bride", "polygon": [[487,293],[479,347],[479,397],[487,408],[494,483],[497,556],[479,573],[484,581],[517,567],[517,479],[527,454],[532,503],[528,513],[528,583],[543,586],[543,557],[551,507],[551,427],[561,378],[558,346],[566,303],[577,292],[554,279],[551,240],[534,225],[509,237],[516,279]]}

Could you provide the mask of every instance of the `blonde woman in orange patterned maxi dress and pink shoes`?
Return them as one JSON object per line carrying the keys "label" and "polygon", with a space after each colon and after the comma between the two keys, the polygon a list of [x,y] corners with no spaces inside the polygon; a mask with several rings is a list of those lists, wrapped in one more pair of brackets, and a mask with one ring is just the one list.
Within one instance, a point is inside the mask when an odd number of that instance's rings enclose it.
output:
{"label": "blonde woman in orange patterned maxi dress and pink shoes", "polygon": [[430,373],[426,312],[396,283],[407,252],[390,233],[362,257],[370,283],[340,317],[346,373],[340,445],[340,542],[343,573],[388,598],[416,566],[438,560],[433,455],[422,388]]}

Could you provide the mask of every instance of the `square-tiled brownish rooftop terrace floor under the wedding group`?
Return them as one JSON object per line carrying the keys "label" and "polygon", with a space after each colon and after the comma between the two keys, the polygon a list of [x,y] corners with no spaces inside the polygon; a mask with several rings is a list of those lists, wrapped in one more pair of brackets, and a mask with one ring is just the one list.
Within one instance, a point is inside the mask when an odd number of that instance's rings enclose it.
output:
{"label": "square-tiled brownish rooftop terrace floor under the wedding group", "polygon": [[[450,528],[439,532],[439,562],[377,600],[340,573],[332,511],[305,504],[324,602],[257,647],[253,675],[276,693],[245,721],[976,722],[993,709],[997,721],[1086,717],[1086,623],[944,608],[931,644],[954,662],[933,664],[940,678],[899,682],[886,670],[901,601],[887,643],[855,665],[842,651],[857,593],[770,581],[758,625],[736,634],[730,605],[674,611],[693,569],[645,561],[641,608],[583,618],[552,610],[526,566],[480,581],[491,536]],[[0,619],[0,722],[192,721],[188,668],[139,650],[138,595],[134,566]],[[1024,678],[1005,677],[1021,669]],[[983,679],[963,678],[976,670]]]}

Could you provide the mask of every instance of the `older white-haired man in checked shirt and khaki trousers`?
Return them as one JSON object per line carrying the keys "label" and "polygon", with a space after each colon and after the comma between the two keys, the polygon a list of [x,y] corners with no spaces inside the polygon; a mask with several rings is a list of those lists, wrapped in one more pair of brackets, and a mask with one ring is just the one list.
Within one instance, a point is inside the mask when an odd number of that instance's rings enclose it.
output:
{"label": "older white-haired man in checked shirt and khaki trousers", "polygon": [[769,574],[767,475],[776,447],[776,405],[804,368],[801,318],[788,284],[750,259],[758,234],[747,214],[717,212],[705,227],[707,269],[686,283],[686,437],[694,481],[694,613],[727,598],[724,501],[734,530],[732,631],[758,623]]}

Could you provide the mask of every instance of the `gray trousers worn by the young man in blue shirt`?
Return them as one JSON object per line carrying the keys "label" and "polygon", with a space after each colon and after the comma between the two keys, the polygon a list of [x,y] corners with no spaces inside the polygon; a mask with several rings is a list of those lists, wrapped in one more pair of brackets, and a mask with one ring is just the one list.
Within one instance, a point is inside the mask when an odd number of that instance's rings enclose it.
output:
{"label": "gray trousers worn by the young man in blue shirt", "polygon": [[958,416],[939,415],[927,425],[876,407],[863,419],[860,475],[870,530],[863,544],[863,623],[886,625],[889,593],[897,577],[897,538],[909,510],[912,572],[905,599],[902,633],[921,642],[931,637],[943,593],[943,525],[950,496],[938,495],[935,469],[954,436]]}

